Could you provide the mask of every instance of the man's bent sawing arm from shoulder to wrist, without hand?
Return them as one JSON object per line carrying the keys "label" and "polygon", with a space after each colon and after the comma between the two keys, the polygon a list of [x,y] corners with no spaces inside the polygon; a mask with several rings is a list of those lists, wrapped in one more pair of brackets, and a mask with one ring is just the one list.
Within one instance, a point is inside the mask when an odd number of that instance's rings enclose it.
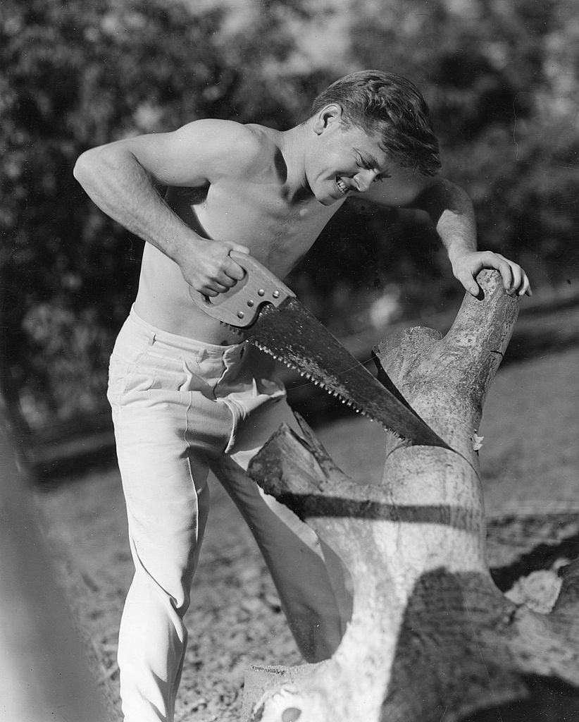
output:
{"label": "man's bent sawing arm from shoulder to wrist, without hand", "polygon": [[200,236],[160,196],[156,184],[213,183],[252,162],[253,136],[231,121],[195,121],[173,131],[123,139],[84,152],[75,178],[99,208],[180,266]]}

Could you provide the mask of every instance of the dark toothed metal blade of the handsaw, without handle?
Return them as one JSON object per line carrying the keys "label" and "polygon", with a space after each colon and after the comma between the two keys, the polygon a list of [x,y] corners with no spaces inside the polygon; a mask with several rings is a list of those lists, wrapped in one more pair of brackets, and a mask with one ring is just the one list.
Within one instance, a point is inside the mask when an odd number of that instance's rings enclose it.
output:
{"label": "dark toothed metal blade of the handsaw, without handle", "polygon": [[395,435],[414,445],[450,448],[386,375],[384,383],[376,379],[296,297],[262,307],[243,336]]}

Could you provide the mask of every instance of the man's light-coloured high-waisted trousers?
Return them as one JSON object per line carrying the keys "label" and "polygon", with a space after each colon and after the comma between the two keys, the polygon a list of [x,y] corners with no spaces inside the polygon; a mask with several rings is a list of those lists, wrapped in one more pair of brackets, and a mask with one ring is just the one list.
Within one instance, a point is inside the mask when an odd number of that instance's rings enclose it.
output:
{"label": "man's light-coloured high-waisted trousers", "polygon": [[253,347],[168,334],[134,310],[120,331],[108,399],[136,569],[119,633],[126,722],[173,719],[210,469],[255,536],[304,658],[330,656],[342,636],[350,599],[339,560],[245,474],[283,422],[299,432],[273,372]]}

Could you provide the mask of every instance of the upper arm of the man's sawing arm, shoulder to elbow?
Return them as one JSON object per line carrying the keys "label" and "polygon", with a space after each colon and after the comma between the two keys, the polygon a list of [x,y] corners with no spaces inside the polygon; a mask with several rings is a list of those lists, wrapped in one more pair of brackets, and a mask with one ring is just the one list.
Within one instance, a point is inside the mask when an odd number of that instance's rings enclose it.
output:
{"label": "upper arm of the man's sawing arm, shoulder to elbow", "polygon": [[202,186],[228,168],[255,156],[252,132],[233,121],[201,120],[171,133],[156,133],[110,144],[131,153],[164,186]]}

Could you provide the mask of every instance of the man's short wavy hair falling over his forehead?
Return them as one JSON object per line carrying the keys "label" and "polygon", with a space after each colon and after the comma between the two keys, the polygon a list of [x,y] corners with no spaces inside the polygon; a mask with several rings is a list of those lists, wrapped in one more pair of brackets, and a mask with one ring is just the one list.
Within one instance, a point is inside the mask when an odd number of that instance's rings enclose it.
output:
{"label": "man's short wavy hair falling over his forehead", "polygon": [[394,73],[362,70],[333,82],[311,106],[311,114],[335,103],[342,123],[381,136],[384,152],[405,168],[423,175],[441,169],[438,140],[430,124],[428,105],[415,84]]}

